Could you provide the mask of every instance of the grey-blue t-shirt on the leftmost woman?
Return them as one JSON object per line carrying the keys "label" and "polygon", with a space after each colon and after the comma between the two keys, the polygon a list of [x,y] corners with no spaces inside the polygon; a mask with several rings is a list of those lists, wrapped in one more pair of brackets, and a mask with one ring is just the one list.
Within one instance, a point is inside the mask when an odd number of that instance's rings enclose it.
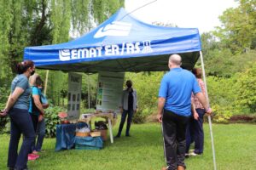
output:
{"label": "grey-blue t-shirt on the leftmost woman", "polygon": [[24,74],[17,75],[11,84],[11,93],[13,94],[15,88],[22,88],[24,90],[23,94],[20,94],[19,98],[16,100],[13,106],[16,109],[28,110],[29,96],[31,94],[31,89],[29,87],[28,79]]}

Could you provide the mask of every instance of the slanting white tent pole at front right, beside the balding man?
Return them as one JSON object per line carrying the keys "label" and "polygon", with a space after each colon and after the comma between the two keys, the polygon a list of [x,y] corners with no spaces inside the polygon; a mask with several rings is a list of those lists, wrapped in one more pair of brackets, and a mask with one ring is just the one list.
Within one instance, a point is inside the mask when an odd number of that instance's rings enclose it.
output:
{"label": "slanting white tent pole at front right, beside the balding man", "polygon": [[[203,73],[203,80],[204,80],[204,82],[205,82],[205,88],[206,88],[207,104],[210,105],[209,96],[208,96],[208,92],[207,92],[207,78],[206,78],[205,65],[204,65],[204,61],[203,61],[203,55],[202,55],[201,52],[200,52],[200,59],[201,59],[201,70],[202,70],[202,73]],[[212,120],[211,120],[211,116],[208,116],[208,122],[209,122],[210,134],[211,134],[211,139],[212,139],[213,167],[214,167],[214,170],[217,170],[217,167],[216,167],[216,158],[215,158],[215,149],[214,149],[214,143],[213,143]]]}

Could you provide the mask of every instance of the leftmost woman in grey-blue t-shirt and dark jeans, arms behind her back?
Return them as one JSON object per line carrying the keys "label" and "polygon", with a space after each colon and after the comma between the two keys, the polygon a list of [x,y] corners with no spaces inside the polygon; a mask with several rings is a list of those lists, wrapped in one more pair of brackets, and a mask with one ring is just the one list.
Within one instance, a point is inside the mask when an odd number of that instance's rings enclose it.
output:
{"label": "leftmost woman in grey-blue t-shirt and dark jeans, arms behind her back", "polygon": [[[9,169],[27,169],[27,156],[31,150],[35,132],[33,131],[32,119],[28,113],[29,87],[28,77],[35,72],[35,65],[32,60],[25,60],[17,66],[18,75],[12,81],[11,94],[2,112],[2,115],[9,114],[10,117],[10,141],[8,167]],[[23,134],[23,143],[18,154],[20,135]]]}

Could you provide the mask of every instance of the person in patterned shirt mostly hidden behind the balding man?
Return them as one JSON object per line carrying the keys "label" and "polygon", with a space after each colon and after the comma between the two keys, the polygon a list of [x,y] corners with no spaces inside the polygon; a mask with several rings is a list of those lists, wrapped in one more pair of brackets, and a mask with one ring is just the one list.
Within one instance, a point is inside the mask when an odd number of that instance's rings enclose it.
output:
{"label": "person in patterned shirt mostly hidden behind the balding man", "polygon": [[[203,94],[206,94],[205,84],[201,79],[201,69],[194,68],[192,70],[192,73],[196,77],[196,80],[201,88],[201,92]],[[188,140],[186,151],[187,153],[189,153],[189,146],[194,140],[195,150],[192,153],[190,153],[189,156],[197,156],[197,155],[201,155],[204,150],[203,116],[205,115],[205,109],[203,105],[201,105],[200,100],[195,95],[192,95],[192,103],[194,105],[192,109],[194,113],[194,119],[191,120],[191,122],[189,123],[189,127],[187,128],[189,131],[188,136],[190,136],[190,138],[186,138],[186,140]]]}

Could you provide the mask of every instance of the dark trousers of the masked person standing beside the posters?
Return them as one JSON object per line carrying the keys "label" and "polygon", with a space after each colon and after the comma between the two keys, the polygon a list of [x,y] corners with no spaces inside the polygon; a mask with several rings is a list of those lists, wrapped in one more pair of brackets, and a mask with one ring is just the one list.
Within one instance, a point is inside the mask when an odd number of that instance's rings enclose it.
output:
{"label": "dark trousers of the masked person standing beside the posters", "polygon": [[117,134],[117,136],[120,136],[121,133],[122,133],[122,130],[123,130],[123,127],[124,127],[124,124],[125,124],[125,119],[126,119],[127,115],[128,115],[128,118],[127,118],[127,125],[126,125],[125,135],[126,136],[130,135],[130,127],[131,127],[131,119],[132,119],[132,116],[133,116],[133,110],[131,110],[131,111],[124,110],[123,113],[122,113],[121,122],[120,122],[120,125],[119,125],[119,133]]}

